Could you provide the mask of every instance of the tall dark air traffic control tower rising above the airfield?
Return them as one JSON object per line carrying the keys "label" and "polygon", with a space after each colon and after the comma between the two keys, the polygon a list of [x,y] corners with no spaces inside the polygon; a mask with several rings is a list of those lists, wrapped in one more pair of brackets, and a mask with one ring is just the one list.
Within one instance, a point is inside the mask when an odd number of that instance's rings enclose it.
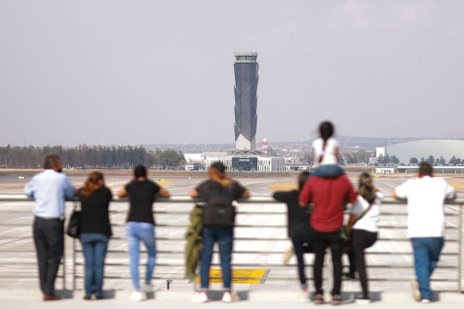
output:
{"label": "tall dark air traffic control tower rising above the airfield", "polygon": [[235,149],[256,148],[258,53],[235,53]]}

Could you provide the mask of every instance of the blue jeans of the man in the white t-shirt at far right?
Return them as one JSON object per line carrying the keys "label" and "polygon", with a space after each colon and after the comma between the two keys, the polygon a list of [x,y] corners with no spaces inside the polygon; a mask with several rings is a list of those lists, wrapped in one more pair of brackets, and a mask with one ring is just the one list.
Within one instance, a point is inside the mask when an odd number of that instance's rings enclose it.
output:
{"label": "blue jeans of the man in the white t-shirt at far right", "polygon": [[430,276],[440,259],[443,242],[443,237],[411,238],[414,249],[414,268],[419,283],[420,297],[423,299],[431,299]]}

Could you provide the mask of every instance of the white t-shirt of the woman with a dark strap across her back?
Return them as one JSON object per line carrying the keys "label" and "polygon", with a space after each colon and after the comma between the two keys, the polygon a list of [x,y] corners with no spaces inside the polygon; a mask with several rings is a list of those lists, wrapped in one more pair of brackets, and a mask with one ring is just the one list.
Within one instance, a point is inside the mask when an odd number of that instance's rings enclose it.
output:
{"label": "white t-shirt of the woman with a dark strap across her back", "polygon": [[[377,198],[375,198],[372,203],[371,209],[369,212],[364,214],[359,221],[353,225],[355,230],[365,230],[367,232],[377,233],[379,230],[379,218],[380,218],[380,199],[383,197],[383,194],[380,192],[377,193]],[[358,195],[356,198],[356,203],[351,206],[350,213],[360,216],[364,213],[369,207],[369,202],[365,200],[362,196]]]}

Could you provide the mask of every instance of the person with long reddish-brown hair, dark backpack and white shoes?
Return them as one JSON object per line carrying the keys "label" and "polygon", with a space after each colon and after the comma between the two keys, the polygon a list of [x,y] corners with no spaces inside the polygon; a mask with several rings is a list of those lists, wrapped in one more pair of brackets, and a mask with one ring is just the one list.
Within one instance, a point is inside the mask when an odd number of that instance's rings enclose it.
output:
{"label": "person with long reddish-brown hair, dark backpack and white shoes", "polygon": [[225,166],[214,162],[208,170],[210,179],[202,182],[190,191],[193,198],[203,198],[203,252],[201,256],[201,290],[195,294],[193,301],[208,301],[207,290],[210,285],[210,266],[214,243],[219,245],[219,256],[223,272],[224,302],[235,301],[232,294],[232,243],[234,238],[235,209],[232,202],[238,198],[248,198],[250,193],[239,182],[225,174]]}

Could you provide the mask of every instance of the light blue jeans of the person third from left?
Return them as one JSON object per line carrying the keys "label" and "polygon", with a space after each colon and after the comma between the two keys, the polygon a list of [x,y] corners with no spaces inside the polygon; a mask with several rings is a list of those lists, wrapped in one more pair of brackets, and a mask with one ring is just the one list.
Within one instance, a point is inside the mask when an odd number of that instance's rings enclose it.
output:
{"label": "light blue jeans of the person third from left", "polygon": [[131,258],[131,276],[133,287],[140,290],[138,279],[138,259],[140,256],[140,241],[145,244],[148,251],[147,274],[145,274],[145,283],[151,282],[153,270],[155,268],[156,244],[155,244],[155,226],[146,222],[128,222],[127,241],[129,242],[129,255]]}

